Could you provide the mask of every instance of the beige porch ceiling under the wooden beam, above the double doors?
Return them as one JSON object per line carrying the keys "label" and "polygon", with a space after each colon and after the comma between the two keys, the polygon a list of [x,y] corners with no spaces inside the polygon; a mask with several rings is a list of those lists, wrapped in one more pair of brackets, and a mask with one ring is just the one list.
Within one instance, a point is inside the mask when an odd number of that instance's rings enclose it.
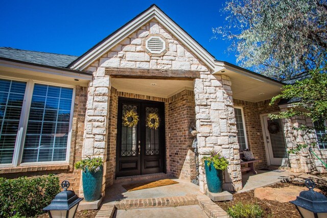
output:
{"label": "beige porch ceiling under the wooden beam, above the double doors", "polygon": [[[155,85],[152,85],[155,84]],[[118,91],[168,98],[184,89],[193,90],[193,81],[111,78]]]}

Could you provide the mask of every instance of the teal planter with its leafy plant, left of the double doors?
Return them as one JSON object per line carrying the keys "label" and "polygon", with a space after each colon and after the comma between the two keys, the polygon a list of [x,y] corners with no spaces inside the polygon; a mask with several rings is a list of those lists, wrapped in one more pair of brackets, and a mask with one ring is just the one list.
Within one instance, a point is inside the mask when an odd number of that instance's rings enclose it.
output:
{"label": "teal planter with its leafy plant, left of the double doors", "polygon": [[103,176],[101,157],[83,159],[75,163],[76,169],[82,169],[82,182],[85,201],[100,199]]}

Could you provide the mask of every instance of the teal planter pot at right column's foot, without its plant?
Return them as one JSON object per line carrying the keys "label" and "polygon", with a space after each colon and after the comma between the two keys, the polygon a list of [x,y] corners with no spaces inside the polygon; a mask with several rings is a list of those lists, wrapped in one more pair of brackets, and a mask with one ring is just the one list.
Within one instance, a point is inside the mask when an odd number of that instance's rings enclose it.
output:
{"label": "teal planter pot at right column's foot, without its plant", "polygon": [[205,178],[208,190],[212,193],[219,193],[222,191],[223,186],[223,171],[216,169],[214,163],[208,166],[208,161],[204,161]]}

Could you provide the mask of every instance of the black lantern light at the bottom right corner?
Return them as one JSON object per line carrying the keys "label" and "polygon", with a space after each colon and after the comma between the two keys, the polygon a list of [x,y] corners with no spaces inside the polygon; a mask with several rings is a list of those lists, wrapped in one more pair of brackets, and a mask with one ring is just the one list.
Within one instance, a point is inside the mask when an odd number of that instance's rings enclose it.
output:
{"label": "black lantern light at the bottom right corner", "polygon": [[312,179],[306,179],[305,185],[309,191],[301,191],[294,204],[303,218],[327,218],[327,197],[314,191],[316,184]]}

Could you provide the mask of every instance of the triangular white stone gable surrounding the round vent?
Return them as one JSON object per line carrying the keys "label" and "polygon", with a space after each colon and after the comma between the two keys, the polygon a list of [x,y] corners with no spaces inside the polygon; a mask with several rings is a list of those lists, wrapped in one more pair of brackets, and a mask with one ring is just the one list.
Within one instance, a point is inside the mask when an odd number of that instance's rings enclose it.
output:
{"label": "triangular white stone gable surrounding the round vent", "polygon": [[[151,54],[146,49],[145,41],[151,36],[159,36],[166,42],[166,50],[164,54],[160,54],[161,56]],[[98,67],[208,71],[207,67],[189,49],[155,19],[92,63],[87,71],[95,72]]]}

